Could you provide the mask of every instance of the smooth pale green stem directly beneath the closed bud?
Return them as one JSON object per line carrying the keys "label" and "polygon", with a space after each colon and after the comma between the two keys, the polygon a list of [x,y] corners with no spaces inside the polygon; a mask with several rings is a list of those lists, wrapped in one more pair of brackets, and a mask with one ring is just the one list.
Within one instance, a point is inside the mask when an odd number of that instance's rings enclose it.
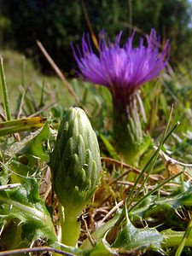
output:
{"label": "smooth pale green stem directly beneath the closed bud", "polygon": [[80,234],[79,214],[59,204],[61,223],[61,242],[67,246],[75,247]]}

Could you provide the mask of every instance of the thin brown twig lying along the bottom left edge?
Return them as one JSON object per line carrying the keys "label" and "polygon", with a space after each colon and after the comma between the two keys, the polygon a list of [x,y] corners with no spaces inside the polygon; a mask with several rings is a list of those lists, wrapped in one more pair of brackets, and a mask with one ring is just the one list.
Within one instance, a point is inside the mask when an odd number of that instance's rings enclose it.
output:
{"label": "thin brown twig lying along the bottom left edge", "polygon": [[9,256],[9,255],[18,254],[18,253],[37,253],[37,252],[45,252],[45,251],[59,253],[61,255],[66,255],[66,256],[74,256],[75,255],[72,253],[65,253],[61,250],[57,250],[57,249],[51,248],[51,247],[32,247],[32,248],[21,248],[21,249],[16,249],[16,250],[3,251],[0,253],[0,256]]}

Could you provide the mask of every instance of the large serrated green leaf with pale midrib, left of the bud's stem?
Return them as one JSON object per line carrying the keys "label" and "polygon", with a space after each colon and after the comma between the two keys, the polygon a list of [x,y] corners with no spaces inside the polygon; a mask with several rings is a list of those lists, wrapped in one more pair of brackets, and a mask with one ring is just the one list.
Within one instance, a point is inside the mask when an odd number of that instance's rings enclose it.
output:
{"label": "large serrated green leaf with pale midrib, left of the bud's stem", "polygon": [[[16,189],[0,190],[1,219],[19,224],[20,242],[32,243],[38,238],[46,239],[49,245],[56,241],[55,229],[49,212],[38,194],[38,183],[33,178],[27,178]],[[15,236],[18,234],[15,226]],[[9,236],[3,236],[9,239]],[[4,241],[5,243],[7,241]],[[19,242],[17,241],[18,246]]]}

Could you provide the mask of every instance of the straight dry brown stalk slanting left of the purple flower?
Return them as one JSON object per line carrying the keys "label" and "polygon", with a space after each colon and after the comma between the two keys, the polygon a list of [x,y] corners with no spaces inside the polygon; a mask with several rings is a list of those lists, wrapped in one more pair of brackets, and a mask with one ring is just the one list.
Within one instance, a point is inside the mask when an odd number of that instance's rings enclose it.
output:
{"label": "straight dry brown stalk slanting left of the purple flower", "polygon": [[50,57],[50,55],[48,54],[46,49],[44,49],[43,44],[41,42],[39,42],[39,41],[37,41],[37,44],[38,44],[39,49],[42,51],[42,53],[44,54],[45,58],[49,62],[50,66],[53,67],[53,69],[55,70],[55,73],[61,79],[63,84],[67,87],[68,92],[73,96],[73,98],[75,99],[76,102],[80,103],[79,96],[76,95],[76,93],[74,92],[72,86],[67,82],[67,79],[65,78],[63,73],[61,73],[60,68],[57,67],[57,65],[55,64],[55,61],[53,61],[53,59]]}

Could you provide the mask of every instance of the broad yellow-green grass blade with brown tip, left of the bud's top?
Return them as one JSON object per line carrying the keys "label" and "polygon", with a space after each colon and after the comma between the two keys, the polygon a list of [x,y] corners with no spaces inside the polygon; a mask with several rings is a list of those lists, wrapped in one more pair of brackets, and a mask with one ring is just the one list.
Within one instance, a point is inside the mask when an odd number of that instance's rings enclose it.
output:
{"label": "broad yellow-green grass blade with brown tip, left of the bud's top", "polygon": [[20,131],[34,131],[44,126],[45,118],[15,119],[0,123],[0,137]]}

